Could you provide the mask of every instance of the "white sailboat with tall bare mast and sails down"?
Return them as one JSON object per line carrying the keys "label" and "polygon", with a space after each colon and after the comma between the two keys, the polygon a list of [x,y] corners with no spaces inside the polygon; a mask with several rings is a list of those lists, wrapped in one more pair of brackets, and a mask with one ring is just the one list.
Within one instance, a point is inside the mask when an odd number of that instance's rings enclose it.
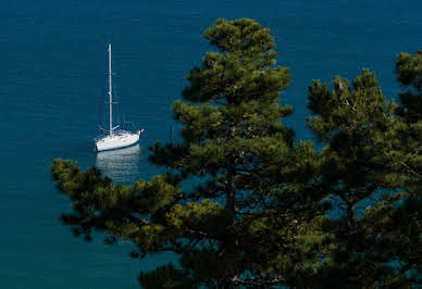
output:
{"label": "white sailboat with tall bare mast and sails down", "polygon": [[111,45],[109,45],[109,129],[108,134],[95,139],[96,151],[108,151],[122,149],[138,142],[139,136],[145,131],[137,130],[132,133],[120,128],[119,125],[113,127],[113,93],[112,93],[112,74],[111,74]]}

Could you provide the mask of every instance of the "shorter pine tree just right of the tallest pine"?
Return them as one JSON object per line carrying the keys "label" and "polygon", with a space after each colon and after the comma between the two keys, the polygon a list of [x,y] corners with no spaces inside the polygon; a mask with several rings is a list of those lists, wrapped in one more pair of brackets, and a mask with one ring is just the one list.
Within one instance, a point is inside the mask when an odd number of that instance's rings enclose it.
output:
{"label": "shorter pine tree just right of the tallest pine", "polygon": [[326,143],[320,184],[333,204],[314,286],[410,287],[421,260],[420,199],[409,202],[421,192],[421,130],[397,116],[409,112],[386,100],[369,71],[333,87],[309,87],[309,127]]}

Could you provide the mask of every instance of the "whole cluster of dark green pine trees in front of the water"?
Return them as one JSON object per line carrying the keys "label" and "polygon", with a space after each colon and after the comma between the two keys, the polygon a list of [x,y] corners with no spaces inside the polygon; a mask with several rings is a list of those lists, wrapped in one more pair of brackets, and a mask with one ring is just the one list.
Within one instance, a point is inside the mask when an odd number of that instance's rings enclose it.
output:
{"label": "whole cluster of dark green pine trees in front of the water", "polygon": [[[397,58],[400,104],[374,73],[309,86],[312,141],[294,141],[280,104],[290,75],[270,30],[218,20],[215,48],[173,104],[181,141],[156,143],[151,180],[116,185],[57,159],[76,236],[131,240],[133,257],[174,252],[140,273],[145,288],[410,287],[421,274],[421,53]],[[415,104],[417,103],[417,104]],[[195,181],[191,179],[195,178]]]}

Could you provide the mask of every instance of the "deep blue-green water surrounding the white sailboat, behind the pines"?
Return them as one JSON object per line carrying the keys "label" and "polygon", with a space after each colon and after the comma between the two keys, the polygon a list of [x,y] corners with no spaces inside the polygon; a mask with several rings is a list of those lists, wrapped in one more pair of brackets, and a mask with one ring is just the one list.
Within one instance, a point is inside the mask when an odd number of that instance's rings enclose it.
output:
{"label": "deep blue-green water surrounding the white sailboat, behind the pines", "polygon": [[[48,165],[57,156],[98,165],[120,183],[149,178],[147,146],[169,139],[170,104],[184,76],[209,50],[201,37],[218,17],[252,17],[269,27],[291,70],[283,103],[286,124],[310,138],[307,85],[335,75],[377,73],[395,97],[394,60],[422,49],[422,1],[3,1],[0,8],[0,287],[137,288],[144,261],[131,243],[105,247],[75,239],[59,222],[70,210]],[[126,120],[146,134],[140,147],[96,155],[107,43],[113,45],[115,85]]]}

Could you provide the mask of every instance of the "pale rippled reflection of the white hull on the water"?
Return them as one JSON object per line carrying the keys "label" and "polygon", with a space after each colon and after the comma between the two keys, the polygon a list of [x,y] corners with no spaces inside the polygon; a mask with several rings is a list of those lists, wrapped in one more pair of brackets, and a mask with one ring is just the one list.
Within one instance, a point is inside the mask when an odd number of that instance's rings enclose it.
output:
{"label": "pale rippled reflection of the white hull on the water", "polygon": [[140,146],[101,151],[97,153],[96,166],[101,169],[103,176],[113,179],[114,183],[128,184],[139,178]]}

